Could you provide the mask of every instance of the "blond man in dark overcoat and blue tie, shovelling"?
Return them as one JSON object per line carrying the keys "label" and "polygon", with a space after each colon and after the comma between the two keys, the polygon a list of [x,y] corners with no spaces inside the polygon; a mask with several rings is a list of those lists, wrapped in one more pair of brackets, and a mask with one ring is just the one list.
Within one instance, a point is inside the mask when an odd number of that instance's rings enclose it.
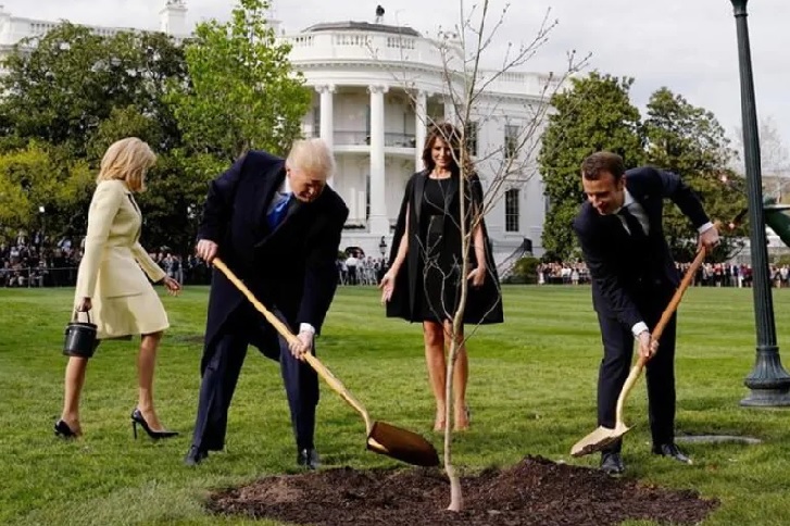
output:
{"label": "blond man in dark overcoat and blue tie, shovelling", "polygon": [[326,186],[335,161],[321,139],[296,141],[287,160],[250,151],[210,184],[197,253],[221,256],[255,297],[298,333],[289,348],[263,315],[214,271],[205,328],[202,384],[187,465],[225,444],[227,414],[248,345],[279,361],[297,442],[297,462],[314,469],[318,378],[302,354],[314,352],[337,288],[340,236],[348,216]]}

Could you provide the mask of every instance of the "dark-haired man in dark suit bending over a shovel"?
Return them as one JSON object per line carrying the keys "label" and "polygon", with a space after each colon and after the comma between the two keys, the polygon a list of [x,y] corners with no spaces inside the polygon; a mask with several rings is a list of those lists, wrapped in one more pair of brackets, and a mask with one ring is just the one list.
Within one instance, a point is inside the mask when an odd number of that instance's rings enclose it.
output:
{"label": "dark-haired man in dark suit bending over a shovel", "polygon": [[[650,335],[680,281],[664,238],[664,200],[677,204],[698,228],[700,245],[715,247],[718,231],[699,198],[670,172],[653,167],[626,172],[619,155],[598,152],[581,164],[581,184],[587,202],[573,226],[592,279],[592,303],[603,341],[598,424],[615,425],[615,405],[636,338],[640,355],[650,358],[645,376],[652,452],[690,463],[675,444],[676,317],[657,342]],[[618,440],[602,451],[604,472],[623,473],[620,448]]]}

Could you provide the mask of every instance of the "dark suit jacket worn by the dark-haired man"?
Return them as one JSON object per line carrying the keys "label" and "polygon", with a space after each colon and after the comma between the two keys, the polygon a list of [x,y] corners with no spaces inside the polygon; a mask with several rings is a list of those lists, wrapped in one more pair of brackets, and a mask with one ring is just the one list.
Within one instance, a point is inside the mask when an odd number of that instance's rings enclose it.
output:
{"label": "dark suit jacket worn by the dark-haired man", "polygon": [[[679,276],[662,225],[664,199],[669,198],[700,227],[710,220],[694,192],[672,172],[652,167],[626,172],[626,189],[641,204],[650,222],[645,247],[636,247],[616,215],[601,215],[585,202],[574,220],[574,230],[592,278],[592,303],[600,314],[627,327],[643,321],[639,304],[650,298],[666,301]],[[657,298],[657,296],[661,296]]]}

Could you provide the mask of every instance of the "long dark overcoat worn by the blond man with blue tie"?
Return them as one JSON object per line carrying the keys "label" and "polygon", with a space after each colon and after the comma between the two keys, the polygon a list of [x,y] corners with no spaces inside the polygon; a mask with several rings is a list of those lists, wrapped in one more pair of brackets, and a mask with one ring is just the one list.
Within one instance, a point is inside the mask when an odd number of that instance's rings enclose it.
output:
{"label": "long dark overcoat worn by the blond man with blue tie", "polygon": [[[309,323],[321,333],[337,288],[335,263],[349,211],[327,186],[313,202],[293,199],[285,221],[271,230],[266,208],[285,177],[285,160],[262,151],[247,153],[211,181],[198,239],[216,242],[220,258],[266,308],[279,310],[292,330]],[[214,272],[206,351],[228,314],[246,301],[222,273]],[[276,359],[276,335],[268,336],[252,343]]]}

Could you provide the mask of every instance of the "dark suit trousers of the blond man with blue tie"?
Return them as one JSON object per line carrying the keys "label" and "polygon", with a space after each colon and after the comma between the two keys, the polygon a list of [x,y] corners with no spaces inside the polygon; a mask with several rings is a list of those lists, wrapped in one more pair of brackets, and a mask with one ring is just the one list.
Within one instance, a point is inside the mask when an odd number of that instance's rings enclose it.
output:
{"label": "dark suit trousers of the blond man with blue tie", "polygon": [[[283,320],[279,312],[277,317]],[[244,304],[228,316],[214,342],[205,350],[198,417],[192,444],[205,451],[220,451],[225,446],[228,409],[236,390],[247,347],[252,343],[279,346],[279,364],[285,384],[297,448],[313,448],[315,406],[318,403],[318,376],[306,362],[294,359],[285,339],[272,337],[274,328],[263,316]],[[276,343],[275,343],[276,342]]]}

